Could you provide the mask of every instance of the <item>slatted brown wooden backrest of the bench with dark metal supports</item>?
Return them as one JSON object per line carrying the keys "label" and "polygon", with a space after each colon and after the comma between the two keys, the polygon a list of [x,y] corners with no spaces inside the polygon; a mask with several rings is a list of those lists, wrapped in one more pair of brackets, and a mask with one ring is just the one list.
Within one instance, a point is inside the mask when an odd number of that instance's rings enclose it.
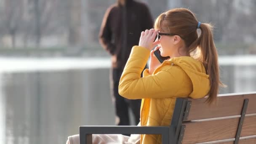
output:
{"label": "slatted brown wooden backrest of the bench with dark metal supports", "polygon": [[178,144],[256,144],[256,92],[177,99],[171,127]]}

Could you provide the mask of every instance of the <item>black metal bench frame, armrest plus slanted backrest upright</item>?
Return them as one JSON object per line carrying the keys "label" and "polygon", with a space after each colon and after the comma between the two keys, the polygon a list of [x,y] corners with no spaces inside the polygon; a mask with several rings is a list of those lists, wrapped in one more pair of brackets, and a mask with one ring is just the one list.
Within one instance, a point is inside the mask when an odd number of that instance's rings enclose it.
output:
{"label": "black metal bench frame, armrest plus slanted backrest upright", "polygon": [[177,98],[171,126],[80,126],[80,144],[92,144],[92,134],[160,134],[163,144],[181,144],[184,126],[182,121],[189,113],[191,102]]}

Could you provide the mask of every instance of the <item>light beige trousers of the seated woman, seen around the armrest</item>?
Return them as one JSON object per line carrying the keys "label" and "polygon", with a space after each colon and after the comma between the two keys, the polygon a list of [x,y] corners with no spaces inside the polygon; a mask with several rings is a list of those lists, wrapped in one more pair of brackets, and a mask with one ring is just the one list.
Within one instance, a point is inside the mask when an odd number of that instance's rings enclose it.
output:
{"label": "light beige trousers of the seated woman, seen around the armrest", "polygon": [[[140,134],[93,134],[93,144],[140,144]],[[79,135],[69,136],[66,144],[79,144]]]}

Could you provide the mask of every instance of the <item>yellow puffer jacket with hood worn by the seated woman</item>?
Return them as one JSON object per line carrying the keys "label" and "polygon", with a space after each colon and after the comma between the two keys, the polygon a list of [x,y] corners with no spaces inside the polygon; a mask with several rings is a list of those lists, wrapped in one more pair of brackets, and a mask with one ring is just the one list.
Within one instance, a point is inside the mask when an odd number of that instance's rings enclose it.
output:
{"label": "yellow puffer jacket with hood worn by the seated woman", "polygon": [[[181,56],[164,61],[152,75],[142,70],[150,51],[133,46],[119,83],[119,93],[127,99],[142,99],[141,125],[171,124],[177,97],[202,98],[210,90],[209,75],[200,61]],[[141,144],[161,144],[160,135],[141,135]]]}

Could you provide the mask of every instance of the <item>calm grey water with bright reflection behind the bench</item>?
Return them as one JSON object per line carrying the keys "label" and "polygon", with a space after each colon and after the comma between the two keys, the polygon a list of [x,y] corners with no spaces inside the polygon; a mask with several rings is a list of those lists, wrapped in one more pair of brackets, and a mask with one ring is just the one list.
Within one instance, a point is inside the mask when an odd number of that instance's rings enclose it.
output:
{"label": "calm grey water with bright reflection behind the bench", "polygon": [[[223,56],[220,93],[256,91],[256,56]],[[110,59],[0,58],[0,144],[64,144],[80,125],[114,125]]]}

